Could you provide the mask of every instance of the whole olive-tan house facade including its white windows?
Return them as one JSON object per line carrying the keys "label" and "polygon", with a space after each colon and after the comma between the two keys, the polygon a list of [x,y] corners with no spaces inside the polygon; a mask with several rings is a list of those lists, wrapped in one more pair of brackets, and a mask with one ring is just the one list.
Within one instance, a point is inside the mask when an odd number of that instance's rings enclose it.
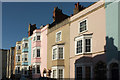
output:
{"label": "whole olive-tan house facade including its white windows", "polygon": [[51,78],[69,78],[69,18],[50,25],[47,34],[47,69]]}

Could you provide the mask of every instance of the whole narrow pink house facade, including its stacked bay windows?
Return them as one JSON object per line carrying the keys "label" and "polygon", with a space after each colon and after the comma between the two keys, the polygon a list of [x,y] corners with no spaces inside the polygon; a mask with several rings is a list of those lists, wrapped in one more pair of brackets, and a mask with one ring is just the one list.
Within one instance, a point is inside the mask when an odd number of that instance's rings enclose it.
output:
{"label": "whole narrow pink house facade, including its stacked bay windows", "polygon": [[43,76],[43,71],[47,70],[47,27],[48,25],[35,29],[32,34],[31,64],[33,78]]}

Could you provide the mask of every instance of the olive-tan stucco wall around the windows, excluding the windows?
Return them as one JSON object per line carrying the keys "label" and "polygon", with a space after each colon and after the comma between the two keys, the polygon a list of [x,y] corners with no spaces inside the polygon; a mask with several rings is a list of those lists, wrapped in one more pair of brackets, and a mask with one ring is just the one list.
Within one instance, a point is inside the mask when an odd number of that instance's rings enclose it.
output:
{"label": "olive-tan stucco wall around the windows, excluding the windows", "polygon": [[[69,78],[69,53],[70,53],[70,27],[69,18],[62,21],[60,24],[53,26],[48,29],[47,35],[47,68],[52,69],[53,66],[64,66],[64,78]],[[64,25],[65,24],[65,25]],[[56,42],[56,32],[62,32],[62,41]],[[63,60],[52,60],[52,47],[56,44],[64,44],[64,61]]]}

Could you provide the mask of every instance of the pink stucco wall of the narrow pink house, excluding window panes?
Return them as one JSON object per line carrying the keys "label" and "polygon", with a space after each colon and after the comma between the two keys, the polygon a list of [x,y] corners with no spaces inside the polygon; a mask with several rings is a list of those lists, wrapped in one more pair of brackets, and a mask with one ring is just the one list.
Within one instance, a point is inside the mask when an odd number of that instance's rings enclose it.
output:
{"label": "pink stucco wall of the narrow pink house, excluding window panes", "polygon": [[[41,76],[43,76],[43,70],[46,68],[47,70],[47,27],[44,26],[41,29],[36,29],[32,35],[32,48],[31,48],[31,64],[40,63],[40,72]],[[33,41],[33,37],[36,36],[36,33],[40,33],[40,41]],[[40,58],[33,58],[33,49],[36,47],[40,47]],[[35,74],[34,77],[39,77],[40,74]]]}

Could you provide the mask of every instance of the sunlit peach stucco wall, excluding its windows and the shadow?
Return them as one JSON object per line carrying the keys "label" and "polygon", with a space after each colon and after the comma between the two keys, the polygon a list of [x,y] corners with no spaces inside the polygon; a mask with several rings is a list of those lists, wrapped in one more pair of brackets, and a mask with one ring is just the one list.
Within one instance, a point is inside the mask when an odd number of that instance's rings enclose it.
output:
{"label": "sunlit peach stucco wall, excluding its windows and the shadow", "polygon": [[[79,33],[79,23],[87,19],[88,30],[84,33]],[[104,54],[106,44],[106,29],[105,29],[105,8],[103,2],[97,2],[85,10],[70,18],[70,78],[75,78],[75,61],[83,56],[96,57]],[[75,55],[75,37],[82,34],[92,33],[92,55]],[[94,53],[94,54],[93,54]],[[93,60],[96,63],[99,60],[105,60],[105,57],[98,57]],[[92,62],[91,62],[92,63]]]}

